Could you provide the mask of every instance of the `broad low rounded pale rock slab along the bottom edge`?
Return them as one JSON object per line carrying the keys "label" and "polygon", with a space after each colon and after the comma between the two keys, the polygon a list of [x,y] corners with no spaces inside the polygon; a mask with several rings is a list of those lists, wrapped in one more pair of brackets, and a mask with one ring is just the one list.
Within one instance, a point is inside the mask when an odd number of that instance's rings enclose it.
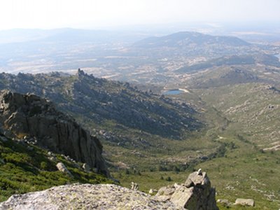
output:
{"label": "broad low rounded pale rock slab along the bottom edge", "polygon": [[0,209],[182,209],[172,202],[158,202],[151,195],[113,184],[69,185],[13,195]]}

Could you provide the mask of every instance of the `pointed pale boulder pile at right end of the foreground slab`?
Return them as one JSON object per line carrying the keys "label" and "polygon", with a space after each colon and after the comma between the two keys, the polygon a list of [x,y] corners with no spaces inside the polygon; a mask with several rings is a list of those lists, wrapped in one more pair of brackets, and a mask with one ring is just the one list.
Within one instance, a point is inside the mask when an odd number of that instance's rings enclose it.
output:
{"label": "pointed pale boulder pile at right end of the foreground slab", "polygon": [[200,169],[190,174],[186,182],[181,185],[175,183],[172,186],[160,188],[155,195],[155,200],[171,201],[178,208],[215,210],[218,209],[215,195],[216,190],[211,188],[206,172]]}

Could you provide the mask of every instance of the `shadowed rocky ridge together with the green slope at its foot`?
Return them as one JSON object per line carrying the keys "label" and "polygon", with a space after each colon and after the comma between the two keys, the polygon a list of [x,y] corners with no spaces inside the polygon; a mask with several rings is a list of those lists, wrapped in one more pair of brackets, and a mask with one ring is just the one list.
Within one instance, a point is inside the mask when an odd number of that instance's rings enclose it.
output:
{"label": "shadowed rocky ridge together with the green slope at its foot", "polygon": [[[113,169],[188,167],[220,147],[197,139],[204,123],[200,113],[185,103],[137,90],[121,83],[87,75],[1,73],[0,87],[33,92],[51,99],[57,109],[69,113],[104,146],[104,158]],[[197,151],[200,153],[197,153]],[[134,170],[135,169],[135,170]]]}

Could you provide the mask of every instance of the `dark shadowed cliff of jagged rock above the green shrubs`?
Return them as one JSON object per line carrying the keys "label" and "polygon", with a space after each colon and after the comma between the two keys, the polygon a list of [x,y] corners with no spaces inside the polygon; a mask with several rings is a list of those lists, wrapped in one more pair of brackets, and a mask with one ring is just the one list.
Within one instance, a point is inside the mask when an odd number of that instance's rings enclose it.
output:
{"label": "dark shadowed cliff of jagged rock above the green shrubs", "polygon": [[0,92],[0,123],[16,137],[29,136],[38,146],[86,162],[109,176],[99,139],[90,136],[75,120],[34,94]]}

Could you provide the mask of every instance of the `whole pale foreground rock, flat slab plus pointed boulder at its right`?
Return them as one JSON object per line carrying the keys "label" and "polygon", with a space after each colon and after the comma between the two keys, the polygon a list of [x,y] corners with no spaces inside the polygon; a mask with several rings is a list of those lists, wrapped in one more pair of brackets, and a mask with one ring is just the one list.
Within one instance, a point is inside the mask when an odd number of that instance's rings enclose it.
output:
{"label": "whole pale foreground rock, flat slab plus pointed boulder at its right", "polygon": [[186,183],[160,188],[157,195],[114,184],[73,184],[13,195],[0,209],[190,209],[216,210],[215,189],[205,172],[194,172]]}

